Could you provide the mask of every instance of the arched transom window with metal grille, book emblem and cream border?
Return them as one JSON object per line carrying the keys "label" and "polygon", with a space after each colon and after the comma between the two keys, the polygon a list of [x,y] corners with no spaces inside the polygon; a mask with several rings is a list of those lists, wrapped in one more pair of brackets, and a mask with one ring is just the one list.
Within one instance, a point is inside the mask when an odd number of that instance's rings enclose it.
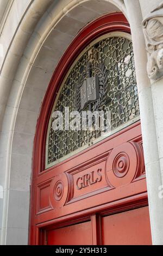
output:
{"label": "arched transom window with metal grille, book emblem and cream border", "polygon": [[131,36],[123,32],[100,36],[72,64],[55,99],[46,168],[138,119]]}

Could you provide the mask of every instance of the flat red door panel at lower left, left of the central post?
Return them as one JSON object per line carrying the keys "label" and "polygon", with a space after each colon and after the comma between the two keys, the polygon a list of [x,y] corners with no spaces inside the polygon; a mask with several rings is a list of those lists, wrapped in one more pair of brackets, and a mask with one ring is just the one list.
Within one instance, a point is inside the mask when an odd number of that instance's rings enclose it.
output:
{"label": "flat red door panel at lower left, left of the central post", "polygon": [[47,231],[48,245],[92,245],[91,221]]}

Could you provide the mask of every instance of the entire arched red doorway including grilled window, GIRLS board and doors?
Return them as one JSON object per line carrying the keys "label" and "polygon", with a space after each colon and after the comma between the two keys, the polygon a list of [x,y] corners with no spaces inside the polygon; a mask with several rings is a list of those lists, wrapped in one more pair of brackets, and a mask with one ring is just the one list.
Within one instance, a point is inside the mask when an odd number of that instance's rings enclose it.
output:
{"label": "entire arched red doorway including grilled window, GIRLS board and doors", "polygon": [[[109,109],[110,130],[54,132],[53,112],[65,106]],[[54,72],[37,122],[30,209],[30,244],[151,244],[134,57],[121,13],[87,25]]]}

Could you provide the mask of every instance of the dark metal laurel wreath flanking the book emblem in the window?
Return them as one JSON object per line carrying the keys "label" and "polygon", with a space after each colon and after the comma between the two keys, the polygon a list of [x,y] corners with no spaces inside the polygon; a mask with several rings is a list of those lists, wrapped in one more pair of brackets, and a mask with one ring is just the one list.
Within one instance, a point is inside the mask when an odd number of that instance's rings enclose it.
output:
{"label": "dark metal laurel wreath flanking the book emblem in the window", "polygon": [[[103,105],[105,104],[105,100],[107,97],[107,90],[108,90],[107,70],[103,63],[99,63],[97,65],[92,66],[92,72],[97,74],[97,76],[99,78],[99,98],[98,98],[98,100],[93,102],[92,108],[93,108],[93,111],[101,111],[103,108]],[[77,111],[79,111],[79,112],[81,112],[80,88],[82,87],[85,77],[86,77],[86,72],[83,74],[82,78],[80,78],[80,81],[77,85],[76,106],[77,106]]]}

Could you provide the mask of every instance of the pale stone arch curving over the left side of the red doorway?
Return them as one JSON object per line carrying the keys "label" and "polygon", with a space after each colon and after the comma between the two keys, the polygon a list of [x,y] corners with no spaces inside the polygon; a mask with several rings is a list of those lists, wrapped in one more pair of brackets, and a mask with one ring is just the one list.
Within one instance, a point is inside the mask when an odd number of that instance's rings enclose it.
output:
{"label": "pale stone arch curving over the left side of the red doorway", "polygon": [[[34,8],[39,8],[39,2],[34,1],[33,4],[37,4]],[[17,32],[17,47],[19,39],[24,39],[22,57],[15,59],[13,53],[19,49],[14,49],[11,45],[10,56],[6,58],[6,61],[9,58],[11,63],[8,66],[4,63],[2,73],[4,80],[7,79],[10,66],[16,65],[16,61],[17,65],[20,62],[11,74],[2,126],[1,147],[6,153],[2,160],[5,170],[2,243],[27,243],[29,186],[36,121],[60,57],[78,31],[88,22],[104,13],[122,11],[126,15],[121,0],[67,0],[52,5],[52,1],[48,1],[48,4],[45,4],[45,0],[41,2],[44,5],[39,10],[40,13],[37,12],[37,19],[33,21],[34,29],[28,43],[28,36],[24,35],[24,32]],[[31,10],[27,11],[26,22],[30,19],[29,11]],[[23,26],[21,28],[23,29]],[[12,203],[15,198],[17,204]],[[14,237],[15,230],[17,237]]]}

